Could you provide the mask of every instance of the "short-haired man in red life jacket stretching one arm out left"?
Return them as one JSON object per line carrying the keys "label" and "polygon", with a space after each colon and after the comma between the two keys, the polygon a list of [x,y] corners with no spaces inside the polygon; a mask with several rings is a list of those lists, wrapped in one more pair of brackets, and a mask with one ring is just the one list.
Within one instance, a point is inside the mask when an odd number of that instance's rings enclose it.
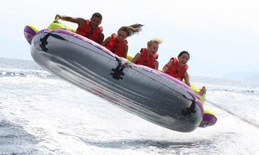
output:
{"label": "short-haired man in red life jacket stretching one arm out left", "polygon": [[59,14],[56,15],[55,19],[57,18],[61,19],[62,21],[77,23],[78,27],[75,33],[85,36],[86,38],[89,38],[90,40],[93,40],[100,45],[103,43],[103,27],[99,26],[103,17],[99,12],[94,13],[90,20],[64,15],[60,16]]}

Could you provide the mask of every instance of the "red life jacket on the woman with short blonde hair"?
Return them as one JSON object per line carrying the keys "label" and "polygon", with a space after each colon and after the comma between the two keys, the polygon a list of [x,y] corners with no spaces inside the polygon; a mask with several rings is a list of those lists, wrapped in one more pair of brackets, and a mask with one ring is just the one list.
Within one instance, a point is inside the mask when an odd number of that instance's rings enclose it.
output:
{"label": "red life jacket on the woman with short blonde hair", "polygon": [[142,48],[140,51],[140,58],[136,60],[136,64],[142,64],[151,69],[155,69],[155,60],[158,59],[158,53],[155,53],[154,56],[149,55],[146,48]]}

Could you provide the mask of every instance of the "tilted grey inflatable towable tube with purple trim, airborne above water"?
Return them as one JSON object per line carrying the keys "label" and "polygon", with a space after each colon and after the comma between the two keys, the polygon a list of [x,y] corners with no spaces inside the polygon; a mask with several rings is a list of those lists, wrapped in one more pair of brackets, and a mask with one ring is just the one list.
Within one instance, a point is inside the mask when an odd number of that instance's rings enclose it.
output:
{"label": "tilted grey inflatable towable tube with purple trim, airborne above water", "polygon": [[[193,90],[160,71],[119,58],[105,47],[66,29],[25,27],[35,62],[51,73],[164,128],[191,132],[217,118]],[[35,32],[35,34],[34,34]]]}

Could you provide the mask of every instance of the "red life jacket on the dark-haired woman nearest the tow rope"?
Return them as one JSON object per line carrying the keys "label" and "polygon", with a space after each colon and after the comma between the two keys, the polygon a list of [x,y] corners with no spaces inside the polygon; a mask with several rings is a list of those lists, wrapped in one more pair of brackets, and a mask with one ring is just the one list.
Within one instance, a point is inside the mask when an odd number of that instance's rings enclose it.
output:
{"label": "red life jacket on the dark-haired woman nearest the tow rope", "polygon": [[166,64],[166,67],[168,67],[167,74],[174,78],[180,78],[180,80],[183,80],[184,73],[187,71],[188,65],[184,64],[184,66],[179,67],[177,58],[171,58],[171,60],[173,60],[173,65]]}

